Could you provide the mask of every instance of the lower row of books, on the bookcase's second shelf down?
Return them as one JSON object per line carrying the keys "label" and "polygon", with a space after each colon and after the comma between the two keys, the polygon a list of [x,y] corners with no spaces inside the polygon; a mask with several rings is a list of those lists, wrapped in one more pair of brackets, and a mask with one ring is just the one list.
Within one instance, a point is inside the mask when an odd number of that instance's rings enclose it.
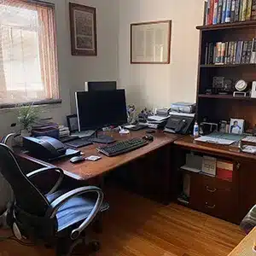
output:
{"label": "lower row of books, on the bookcase's second shelf down", "polygon": [[255,64],[256,38],[252,41],[207,43],[205,64]]}

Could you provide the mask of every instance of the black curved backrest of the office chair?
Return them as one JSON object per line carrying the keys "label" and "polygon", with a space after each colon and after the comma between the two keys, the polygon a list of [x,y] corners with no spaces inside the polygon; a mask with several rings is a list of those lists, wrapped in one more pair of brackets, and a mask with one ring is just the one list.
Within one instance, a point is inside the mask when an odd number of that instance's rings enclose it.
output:
{"label": "black curved backrest of the office chair", "polygon": [[44,217],[49,202],[22,172],[12,149],[3,143],[0,143],[0,172],[14,190],[15,206],[29,214]]}

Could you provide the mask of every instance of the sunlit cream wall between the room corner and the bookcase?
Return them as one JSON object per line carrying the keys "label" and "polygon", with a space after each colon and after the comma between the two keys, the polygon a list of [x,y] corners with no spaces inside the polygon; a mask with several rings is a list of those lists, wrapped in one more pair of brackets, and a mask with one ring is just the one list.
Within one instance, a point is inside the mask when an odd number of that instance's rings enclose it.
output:
{"label": "sunlit cream wall between the room corner and the bookcase", "polygon": [[[171,102],[195,102],[204,0],[120,0],[119,84],[128,102],[138,107],[161,108]],[[170,65],[130,64],[130,24],[172,20]]]}

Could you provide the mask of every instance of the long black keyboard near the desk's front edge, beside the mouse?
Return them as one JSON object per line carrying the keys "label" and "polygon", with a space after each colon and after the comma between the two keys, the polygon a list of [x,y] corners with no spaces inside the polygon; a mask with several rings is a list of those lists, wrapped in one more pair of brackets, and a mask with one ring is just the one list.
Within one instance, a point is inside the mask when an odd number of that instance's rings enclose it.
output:
{"label": "long black keyboard near the desk's front edge, beside the mouse", "polygon": [[141,148],[147,144],[148,142],[142,138],[133,138],[96,149],[102,154],[106,154],[107,156],[115,156],[130,152],[137,148]]}

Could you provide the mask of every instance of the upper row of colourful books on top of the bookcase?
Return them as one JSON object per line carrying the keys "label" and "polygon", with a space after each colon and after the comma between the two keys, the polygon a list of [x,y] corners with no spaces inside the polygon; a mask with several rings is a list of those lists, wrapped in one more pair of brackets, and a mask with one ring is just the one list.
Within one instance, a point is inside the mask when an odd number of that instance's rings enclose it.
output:
{"label": "upper row of colourful books on top of the bookcase", "polygon": [[256,0],[207,0],[205,25],[256,20]]}

